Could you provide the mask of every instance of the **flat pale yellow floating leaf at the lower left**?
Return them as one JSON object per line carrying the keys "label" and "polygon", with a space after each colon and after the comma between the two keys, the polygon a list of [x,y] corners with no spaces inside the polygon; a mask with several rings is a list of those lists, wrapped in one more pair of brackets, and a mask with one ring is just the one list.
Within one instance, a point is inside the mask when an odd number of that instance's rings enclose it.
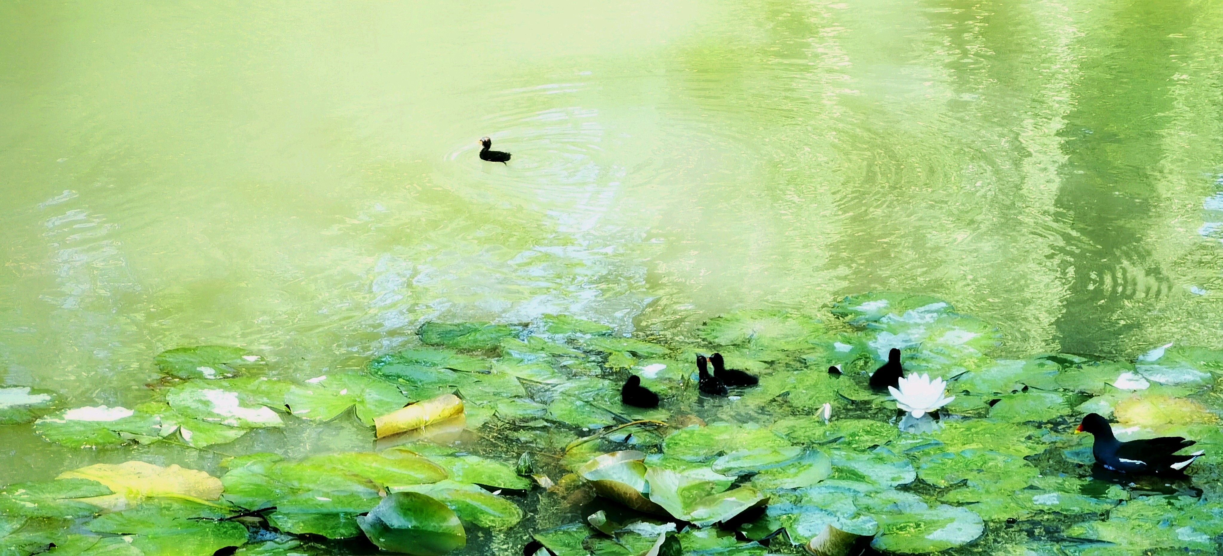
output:
{"label": "flat pale yellow floating leaf at the lower left", "polygon": [[218,500],[221,481],[202,470],[179,466],[161,467],[144,462],[97,463],[60,473],[56,479],[87,479],[102,483],[114,494],[81,499],[111,511],[124,510],[146,499]]}

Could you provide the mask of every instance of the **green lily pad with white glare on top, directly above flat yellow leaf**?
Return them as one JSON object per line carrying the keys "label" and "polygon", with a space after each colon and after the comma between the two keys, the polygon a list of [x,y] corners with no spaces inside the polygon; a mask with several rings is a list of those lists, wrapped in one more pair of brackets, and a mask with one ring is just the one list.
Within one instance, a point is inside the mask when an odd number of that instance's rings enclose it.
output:
{"label": "green lily pad with white glare on top, directly above flat yellow leaf", "polygon": [[38,419],[34,431],[68,447],[109,447],[128,440],[155,441],[161,437],[161,423],[124,407],[77,407]]}

